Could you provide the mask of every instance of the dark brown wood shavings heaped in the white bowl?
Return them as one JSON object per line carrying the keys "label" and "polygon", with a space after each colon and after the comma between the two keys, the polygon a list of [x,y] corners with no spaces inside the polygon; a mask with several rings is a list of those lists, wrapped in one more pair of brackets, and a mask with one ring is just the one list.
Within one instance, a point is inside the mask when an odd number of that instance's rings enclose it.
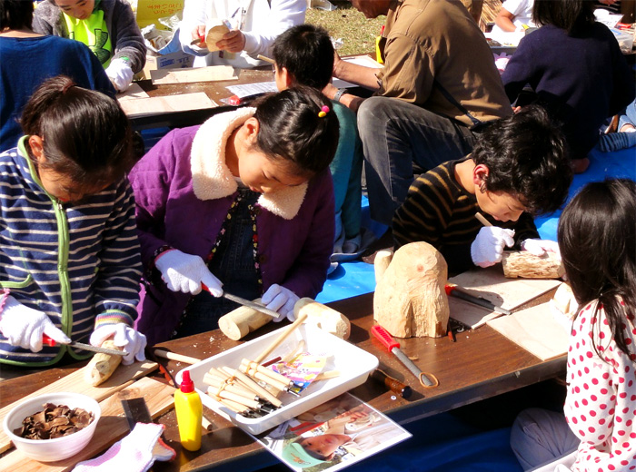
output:
{"label": "dark brown wood shavings heaped in the white bowl", "polygon": [[94,420],[93,413],[82,408],[45,403],[42,411],[26,417],[14,434],[25,439],[54,439],[86,428]]}

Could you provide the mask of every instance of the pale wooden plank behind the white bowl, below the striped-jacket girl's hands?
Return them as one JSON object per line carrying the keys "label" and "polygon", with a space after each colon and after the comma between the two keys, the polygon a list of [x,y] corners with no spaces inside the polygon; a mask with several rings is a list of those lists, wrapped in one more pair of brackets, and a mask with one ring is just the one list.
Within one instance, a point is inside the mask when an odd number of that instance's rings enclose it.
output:
{"label": "pale wooden plank behind the white bowl, below the striped-jacket girl's hands", "polygon": [[[22,403],[27,398],[33,398],[38,395],[52,392],[76,392],[87,395],[97,401],[101,401],[104,398],[110,397],[122,388],[128,387],[131,383],[133,383],[134,379],[144,377],[149,372],[157,369],[157,367],[158,366],[155,362],[149,361],[134,362],[130,366],[120,365],[117,369],[115,369],[110,379],[106,380],[102,385],[98,385],[97,387],[93,387],[86,383],[84,380],[84,369],[75,370],[72,374],[63,377],[44,388],[40,388],[32,394],[0,409],[0,423],[5,420],[5,416],[9,410],[14,408],[18,403]],[[11,441],[6,436],[5,431],[0,430],[0,453],[5,452],[5,450],[10,447],[12,447]],[[0,470],[4,469],[0,468]]]}

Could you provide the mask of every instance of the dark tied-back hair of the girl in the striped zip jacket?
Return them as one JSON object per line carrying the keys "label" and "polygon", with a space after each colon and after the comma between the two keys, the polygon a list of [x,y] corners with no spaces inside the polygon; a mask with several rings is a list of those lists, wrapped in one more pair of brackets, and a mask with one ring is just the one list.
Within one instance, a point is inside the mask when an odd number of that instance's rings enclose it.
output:
{"label": "dark tied-back hair of the girl in the striped zip jacket", "polygon": [[83,189],[122,179],[135,162],[132,131],[116,100],[58,75],[40,85],[20,120],[27,135],[40,136],[45,162]]}

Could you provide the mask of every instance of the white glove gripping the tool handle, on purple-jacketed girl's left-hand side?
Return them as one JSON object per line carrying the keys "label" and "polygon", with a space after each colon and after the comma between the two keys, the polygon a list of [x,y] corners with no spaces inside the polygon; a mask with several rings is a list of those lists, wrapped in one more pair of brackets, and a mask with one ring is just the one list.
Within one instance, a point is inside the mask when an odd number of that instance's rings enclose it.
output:
{"label": "white glove gripping the tool handle, on purple-jacketed girl's left-hand side", "polygon": [[214,297],[223,295],[223,283],[214,277],[199,256],[177,249],[165,251],[154,260],[154,267],[161,272],[168,289],[196,295],[204,283]]}

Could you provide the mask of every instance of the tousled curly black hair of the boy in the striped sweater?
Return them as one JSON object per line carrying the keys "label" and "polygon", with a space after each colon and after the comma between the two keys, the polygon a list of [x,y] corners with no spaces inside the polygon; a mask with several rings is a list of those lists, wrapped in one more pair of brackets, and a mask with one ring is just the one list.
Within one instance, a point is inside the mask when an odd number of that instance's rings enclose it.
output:
{"label": "tousled curly black hair of the boy in the striped sweater", "polygon": [[478,135],[472,160],[488,167],[482,190],[509,193],[532,214],[559,209],[568,195],[567,143],[539,105],[490,124]]}

